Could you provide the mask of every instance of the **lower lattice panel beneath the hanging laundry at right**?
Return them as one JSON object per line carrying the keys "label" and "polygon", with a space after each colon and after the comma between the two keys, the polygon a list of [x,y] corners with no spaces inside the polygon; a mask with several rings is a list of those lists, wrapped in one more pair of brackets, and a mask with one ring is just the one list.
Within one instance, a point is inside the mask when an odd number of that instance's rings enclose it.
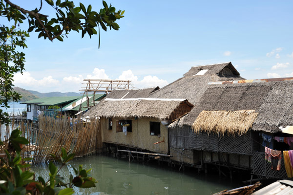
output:
{"label": "lower lattice panel beneath the hanging laundry at right", "polygon": [[264,176],[267,178],[288,179],[284,159],[282,155],[280,171],[272,170],[272,164],[265,160],[265,153],[253,152],[253,171],[254,175]]}

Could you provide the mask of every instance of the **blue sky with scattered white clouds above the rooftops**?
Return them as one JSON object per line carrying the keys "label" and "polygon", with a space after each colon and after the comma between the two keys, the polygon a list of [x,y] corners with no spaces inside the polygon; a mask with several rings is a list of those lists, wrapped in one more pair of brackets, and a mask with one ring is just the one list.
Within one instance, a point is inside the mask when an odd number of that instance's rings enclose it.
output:
{"label": "blue sky with scattered white clouds above the rooftops", "polygon": [[[12,0],[26,9],[39,0]],[[99,10],[102,0],[74,1]],[[106,0],[125,10],[119,31],[63,42],[30,33],[24,75],[15,85],[40,92],[80,90],[84,78],[133,79],[163,87],[191,66],[231,61],[247,79],[293,77],[293,1]],[[53,13],[43,7],[45,14]],[[54,16],[54,15],[53,15]],[[6,23],[0,18],[1,23]],[[6,23],[7,24],[7,23]],[[27,29],[27,21],[21,26]]]}

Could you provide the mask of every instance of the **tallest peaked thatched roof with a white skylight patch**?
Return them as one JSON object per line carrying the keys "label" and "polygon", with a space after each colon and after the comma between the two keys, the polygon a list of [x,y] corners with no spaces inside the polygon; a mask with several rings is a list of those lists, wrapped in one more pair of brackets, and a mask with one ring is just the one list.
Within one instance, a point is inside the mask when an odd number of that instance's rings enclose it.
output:
{"label": "tallest peaked thatched roof with a white skylight patch", "polygon": [[[200,70],[208,70],[204,75],[196,75]],[[223,80],[243,79],[231,62],[207,66],[192,67],[183,78],[179,78],[165,87],[151,93],[149,98],[185,98],[196,105],[206,89],[208,83]]]}

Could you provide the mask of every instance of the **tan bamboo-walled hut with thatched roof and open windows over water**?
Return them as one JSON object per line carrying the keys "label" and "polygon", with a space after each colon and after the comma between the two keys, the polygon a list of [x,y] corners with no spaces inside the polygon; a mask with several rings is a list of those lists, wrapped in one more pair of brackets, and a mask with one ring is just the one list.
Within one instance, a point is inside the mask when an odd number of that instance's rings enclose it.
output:
{"label": "tan bamboo-walled hut with thatched roof and open windows over water", "polygon": [[192,106],[186,99],[105,98],[88,116],[101,118],[104,143],[167,154],[166,125]]}

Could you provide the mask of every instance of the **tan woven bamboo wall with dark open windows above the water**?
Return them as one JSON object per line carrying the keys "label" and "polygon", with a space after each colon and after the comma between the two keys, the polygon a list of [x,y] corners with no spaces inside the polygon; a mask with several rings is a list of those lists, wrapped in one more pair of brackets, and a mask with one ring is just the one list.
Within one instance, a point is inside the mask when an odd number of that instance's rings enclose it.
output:
{"label": "tan woven bamboo wall with dark open windows above the water", "polygon": [[[101,119],[102,138],[103,142],[116,143],[136,148],[141,148],[157,153],[168,153],[168,132],[167,127],[160,123],[161,136],[151,136],[149,130],[149,122],[161,122],[156,118],[126,118],[132,120],[132,132],[116,133],[116,121],[122,118],[112,118],[112,130],[107,130],[107,119]],[[163,141],[162,143],[154,144],[155,142]]]}

